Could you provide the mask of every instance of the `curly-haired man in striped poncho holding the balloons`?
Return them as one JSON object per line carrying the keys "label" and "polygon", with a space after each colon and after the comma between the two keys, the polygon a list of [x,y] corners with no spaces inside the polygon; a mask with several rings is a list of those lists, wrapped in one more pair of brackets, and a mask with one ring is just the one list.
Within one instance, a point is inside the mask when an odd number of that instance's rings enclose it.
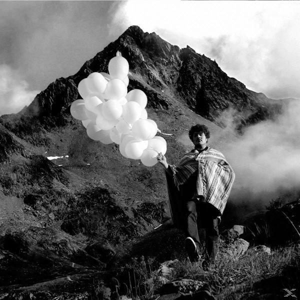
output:
{"label": "curly-haired man in striped poncho holding the balloons", "polygon": [[196,124],[188,132],[194,149],[186,153],[177,166],[167,163],[159,153],[157,160],[166,171],[170,210],[174,224],[186,235],[185,249],[191,262],[199,260],[201,248],[198,228],[205,228],[207,268],[214,263],[218,250],[218,223],[229,196],[234,172],[224,155],[207,145],[209,130]]}

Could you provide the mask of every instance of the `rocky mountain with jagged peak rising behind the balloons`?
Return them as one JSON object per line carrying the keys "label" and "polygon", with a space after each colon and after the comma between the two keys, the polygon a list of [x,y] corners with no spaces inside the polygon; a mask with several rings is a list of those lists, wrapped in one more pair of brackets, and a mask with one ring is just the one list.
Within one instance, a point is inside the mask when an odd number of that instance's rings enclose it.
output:
{"label": "rocky mountain with jagged peak rising behind the balloons", "polygon": [[[81,123],[70,116],[70,103],[80,97],[79,81],[94,71],[107,72],[116,51],[129,62],[128,89],[140,88],[146,93],[149,118],[167,133],[163,137],[170,163],[176,163],[187,150],[182,136],[191,124],[201,122],[212,133],[219,133],[220,127],[209,120],[216,121],[227,107],[237,109],[236,120],[241,125],[271,116],[279,107],[227,77],[216,62],[191,48],[179,49],[155,33],[129,27],[76,74],[50,83],[19,113],[0,117],[0,204],[12,210],[4,217],[5,209],[0,210],[0,257],[6,257],[0,258],[2,283],[9,269],[11,280],[5,284],[27,284],[26,274],[32,275],[32,282],[38,281],[34,252],[49,278],[57,272],[75,272],[76,263],[84,269],[98,267],[114,252],[153,254],[164,260],[174,258],[174,253],[184,255],[184,236],[174,228],[166,235],[154,232],[138,242],[138,237],[164,218],[164,172],[122,157],[115,144],[89,139]],[[69,158],[59,162],[45,157],[66,154]],[[11,199],[18,203],[18,210],[7,204]],[[18,226],[13,223],[16,219]],[[57,236],[61,238],[57,240]],[[153,247],[152,238],[163,245],[163,251]],[[132,246],[134,239],[137,242]],[[55,263],[48,266],[48,253],[51,264],[62,256],[61,268]]]}

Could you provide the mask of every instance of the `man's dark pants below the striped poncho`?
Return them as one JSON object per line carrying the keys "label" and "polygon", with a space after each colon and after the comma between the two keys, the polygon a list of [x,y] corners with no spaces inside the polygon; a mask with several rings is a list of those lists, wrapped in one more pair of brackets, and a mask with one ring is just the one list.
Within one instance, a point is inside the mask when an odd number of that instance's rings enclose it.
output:
{"label": "man's dark pants below the striped poncho", "polygon": [[218,251],[219,233],[218,233],[218,209],[208,202],[198,200],[186,202],[186,227],[185,234],[190,236],[199,250],[202,249],[202,243],[199,238],[199,228],[205,229],[205,251],[204,258],[214,262]]}

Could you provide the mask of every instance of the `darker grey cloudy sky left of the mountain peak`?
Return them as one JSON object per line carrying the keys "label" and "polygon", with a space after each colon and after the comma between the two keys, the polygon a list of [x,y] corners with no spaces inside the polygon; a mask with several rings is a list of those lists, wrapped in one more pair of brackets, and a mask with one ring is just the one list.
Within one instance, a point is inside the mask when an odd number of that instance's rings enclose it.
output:
{"label": "darker grey cloudy sky left of the mountain peak", "polygon": [[[110,23],[119,1],[3,1],[0,63],[34,89],[78,71],[121,33]],[[119,30],[119,28],[118,28]]]}

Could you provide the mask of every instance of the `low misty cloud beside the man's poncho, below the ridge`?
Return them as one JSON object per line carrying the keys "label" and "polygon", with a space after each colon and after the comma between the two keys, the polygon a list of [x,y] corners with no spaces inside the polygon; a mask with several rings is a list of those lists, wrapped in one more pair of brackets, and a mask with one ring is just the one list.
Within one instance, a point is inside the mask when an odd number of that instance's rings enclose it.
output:
{"label": "low misty cloud beside the man's poncho, below the ridge", "polygon": [[299,115],[300,100],[286,103],[276,119],[249,126],[222,146],[236,174],[233,201],[256,199],[265,205],[271,198],[300,191]]}

